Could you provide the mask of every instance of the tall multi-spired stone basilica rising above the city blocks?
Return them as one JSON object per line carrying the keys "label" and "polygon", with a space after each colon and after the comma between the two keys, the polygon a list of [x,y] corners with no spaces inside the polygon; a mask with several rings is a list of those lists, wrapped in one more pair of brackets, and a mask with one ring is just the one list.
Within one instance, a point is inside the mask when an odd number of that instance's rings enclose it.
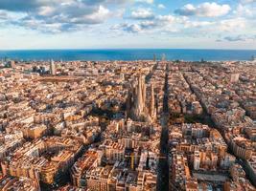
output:
{"label": "tall multi-spired stone basilica rising above the city blocks", "polygon": [[145,77],[140,75],[137,81],[131,85],[131,91],[128,95],[128,117],[135,121],[153,122],[156,118],[153,84],[151,84],[150,96],[150,103],[147,104]]}

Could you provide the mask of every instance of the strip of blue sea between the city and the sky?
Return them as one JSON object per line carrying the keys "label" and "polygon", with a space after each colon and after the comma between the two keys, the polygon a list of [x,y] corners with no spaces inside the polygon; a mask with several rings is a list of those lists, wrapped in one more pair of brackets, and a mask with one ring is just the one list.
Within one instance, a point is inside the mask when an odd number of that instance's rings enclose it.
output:
{"label": "strip of blue sea between the city and the sky", "polygon": [[164,54],[166,60],[185,61],[227,61],[250,60],[256,57],[256,50],[196,50],[196,49],[106,49],[106,50],[22,50],[0,51],[0,59],[23,61],[40,60],[152,60],[161,59]]}

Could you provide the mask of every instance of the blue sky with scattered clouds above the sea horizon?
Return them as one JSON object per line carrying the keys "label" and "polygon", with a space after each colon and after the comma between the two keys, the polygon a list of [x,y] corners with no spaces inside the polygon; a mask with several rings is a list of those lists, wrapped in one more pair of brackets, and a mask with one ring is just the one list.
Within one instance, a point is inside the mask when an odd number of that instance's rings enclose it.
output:
{"label": "blue sky with scattered clouds above the sea horizon", "polygon": [[0,50],[256,50],[256,0],[0,0]]}

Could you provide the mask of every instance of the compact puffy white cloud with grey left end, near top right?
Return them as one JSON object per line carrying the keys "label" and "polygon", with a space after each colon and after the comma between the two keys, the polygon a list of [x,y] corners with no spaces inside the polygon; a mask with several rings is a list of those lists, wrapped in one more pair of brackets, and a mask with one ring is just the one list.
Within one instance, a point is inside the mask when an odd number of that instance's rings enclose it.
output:
{"label": "compact puffy white cloud with grey left end, near top right", "polygon": [[231,10],[229,5],[219,5],[217,3],[202,3],[195,7],[192,4],[187,4],[183,8],[175,12],[186,16],[202,16],[202,17],[218,17],[227,14]]}

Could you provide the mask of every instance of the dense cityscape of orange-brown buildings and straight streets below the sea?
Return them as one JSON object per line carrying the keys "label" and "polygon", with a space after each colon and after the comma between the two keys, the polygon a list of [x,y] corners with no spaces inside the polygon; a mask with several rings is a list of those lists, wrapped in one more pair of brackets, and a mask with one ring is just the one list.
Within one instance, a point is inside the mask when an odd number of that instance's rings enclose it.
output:
{"label": "dense cityscape of orange-brown buildings and straight streets below the sea", "polygon": [[254,191],[256,60],[2,60],[0,162],[1,191]]}

